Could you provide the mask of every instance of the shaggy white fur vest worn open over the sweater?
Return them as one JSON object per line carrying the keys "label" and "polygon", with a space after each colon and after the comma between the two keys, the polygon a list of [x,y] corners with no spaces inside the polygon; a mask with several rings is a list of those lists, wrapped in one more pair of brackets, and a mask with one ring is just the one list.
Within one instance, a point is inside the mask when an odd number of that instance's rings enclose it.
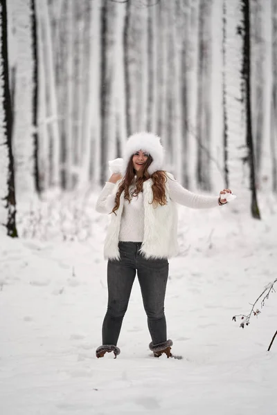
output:
{"label": "shaggy white fur vest worn open over the sweater", "polygon": [[[173,178],[167,173],[168,178]],[[111,194],[114,198],[120,182]],[[166,183],[166,205],[153,205],[152,179],[143,183],[143,206],[144,206],[144,237],[141,252],[146,258],[170,258],[177,255],[179,251],[177,242],[177,206],[170,200],[168,184]],[[105,239],[105,259],[120,259],[118,250],[118,235],[120,221],[124,206],[124,192],[120,195],[120,205],[116,214],[112,213],[111,222]]]}

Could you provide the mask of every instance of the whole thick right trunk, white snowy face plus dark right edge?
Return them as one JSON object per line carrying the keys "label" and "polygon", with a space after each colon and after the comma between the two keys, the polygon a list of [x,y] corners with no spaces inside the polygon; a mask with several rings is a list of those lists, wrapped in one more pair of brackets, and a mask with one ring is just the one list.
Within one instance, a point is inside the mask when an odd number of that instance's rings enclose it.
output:
{"label": "whole thick right trunk, white snowy face plus dark right edge", "polygon": [[225,80],[229,185],[259,219],[251,125],[249,1],[225,1]]}

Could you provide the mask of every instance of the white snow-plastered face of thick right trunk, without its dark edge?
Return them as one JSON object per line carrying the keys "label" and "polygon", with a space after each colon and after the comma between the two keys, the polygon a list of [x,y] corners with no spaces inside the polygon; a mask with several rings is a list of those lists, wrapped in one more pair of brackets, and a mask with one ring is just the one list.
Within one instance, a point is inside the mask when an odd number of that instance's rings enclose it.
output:
{"label": "white snow-plastered face of thick right trunk, without its dark edge", "polygon": [[[242,194],[241,209],[250,205],[249,192],[249,149],[246,142],[245,99],[242,91],[242,21],[240,0],[224,0],[224,93],[225,102],[225,148],[226,183]],[[235,209],[235,205],[233,205]]]}

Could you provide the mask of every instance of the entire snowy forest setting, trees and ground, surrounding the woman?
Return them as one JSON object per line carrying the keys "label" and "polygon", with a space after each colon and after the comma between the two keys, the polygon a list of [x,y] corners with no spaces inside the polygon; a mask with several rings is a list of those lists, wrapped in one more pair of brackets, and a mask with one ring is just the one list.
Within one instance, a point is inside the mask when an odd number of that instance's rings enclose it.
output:
{"label": "entire snowy forest setting, trees and ground, surrounding the woman", "polygon": [[[1,414],[276,415],[277,0],[0,0],[0,25]],[[139,278],[97,358],[96,201],[140,131],[215,206],[177,205],[172,358]]]}

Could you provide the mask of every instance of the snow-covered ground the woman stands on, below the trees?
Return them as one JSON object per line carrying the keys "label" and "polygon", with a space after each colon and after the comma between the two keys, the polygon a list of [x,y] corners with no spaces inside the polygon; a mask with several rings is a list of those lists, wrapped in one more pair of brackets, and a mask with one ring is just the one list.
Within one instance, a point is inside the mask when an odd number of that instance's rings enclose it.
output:
{"label": "snow-covered ground the woman stands on, below the trees", "polygon": [[277,212],[268,200],[260,201],[262,221],[235,214],[231,203],[179,209],[181,255],[170,260],[166,317],[183,360],[150,356],[137,281],[120,356],[96,359],[107,218],[94,212],[95,196],[85,212],[80,198],[55,200],[26,208],[19,218],[26,239],[0,236],[1,414],[276,415],[277,339],[267,348],[277,293],[245,329],[232,322],[277,276]]}

